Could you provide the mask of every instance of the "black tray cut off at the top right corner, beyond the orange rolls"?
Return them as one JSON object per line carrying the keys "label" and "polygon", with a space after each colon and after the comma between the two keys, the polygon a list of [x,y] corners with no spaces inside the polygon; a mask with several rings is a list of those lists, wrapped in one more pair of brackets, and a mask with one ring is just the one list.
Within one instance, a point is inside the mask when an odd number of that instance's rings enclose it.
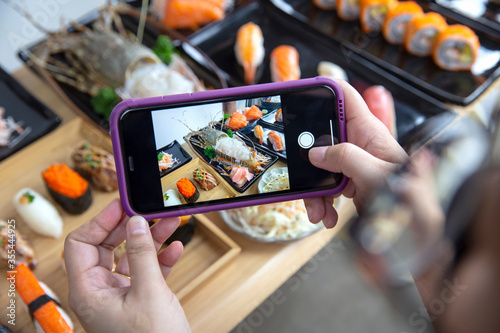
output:
{"label": "black tray cut off at the top right corner, beyond the orange rolls", "polygon": [[429,10],[500,38],[500,5],[488,0],[422,1]]}

